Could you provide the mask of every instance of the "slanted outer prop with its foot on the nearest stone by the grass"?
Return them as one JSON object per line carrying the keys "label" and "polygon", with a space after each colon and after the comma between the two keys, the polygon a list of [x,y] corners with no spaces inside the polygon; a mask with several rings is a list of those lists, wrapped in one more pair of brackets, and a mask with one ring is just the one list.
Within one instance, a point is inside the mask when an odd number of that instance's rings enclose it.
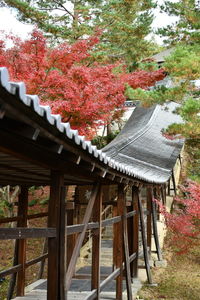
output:
{"label": "slanted outer prop with its foot on the nearest stone by the grass", "polygon": [[144,223],[144,213],[142,208],[142,203],[140,200],[140,197],[138,195],[138,208],[140,213],[140,224],[141,224],[141,233],[142,233],[142,244],[143,244],[143,253],[144,253],[144,261],[147,271],[147,279],[150,284],[152,284],[152,276],[151,276],[151,270],[149,265],[149,255],[147,250],[147,240],[146,240],[146,234],[145,234],[145,223]]}

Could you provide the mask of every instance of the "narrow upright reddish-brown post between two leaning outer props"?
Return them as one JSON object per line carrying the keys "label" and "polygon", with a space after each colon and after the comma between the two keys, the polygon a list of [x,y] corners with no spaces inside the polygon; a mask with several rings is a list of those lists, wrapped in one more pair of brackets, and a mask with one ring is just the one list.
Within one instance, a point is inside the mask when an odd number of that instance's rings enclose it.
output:
{"label": "narrow upright reddish-brown post between two leaning outer props", "polygon": [[138,187],[132,188],[133,210],[136,211],[136,215],[133,216],[133,253],[136,253],[136,258],[131,263],[131,275],[138,277],[138,245],[139,245],[139,210],[138,210]]}

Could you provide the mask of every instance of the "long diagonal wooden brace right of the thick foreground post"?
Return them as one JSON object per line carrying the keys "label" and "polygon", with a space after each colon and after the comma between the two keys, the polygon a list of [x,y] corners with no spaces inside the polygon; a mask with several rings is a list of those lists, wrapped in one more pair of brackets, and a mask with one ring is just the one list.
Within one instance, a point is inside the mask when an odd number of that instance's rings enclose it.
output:
{"label": "long diagonal wooden brace right of the thick foreground post", "polygon": [[76,245],[75,245],[73,255],[72,255],[72,259],[69,263],[69,267],[68,267],[67,274],[66,274],[66,280],[67,280],[66,290],[67,291],[69,290],[69,287],[71,285],[72,276],[73,276],[75,266],[76,266],[76,262],[77,262],[77,259],[78,259],[79,253],[80,253],[80,249],[81,249],[84,237],[85,237],[88,222],[89,222],[90,217],[92,215],[92,209],[93,209],[93,206],[94,206],[94,203],[95,203],[95,199],[96,199],[98,190],[99,190],[99,183],[97,183],[93,186],[93,190],[91,192],[90,200],[88,202],[88,206],[86,208],[85,216],[83,218],[84,228],[83,228],[83,231],[81,232],[81,234],[77,238]]}

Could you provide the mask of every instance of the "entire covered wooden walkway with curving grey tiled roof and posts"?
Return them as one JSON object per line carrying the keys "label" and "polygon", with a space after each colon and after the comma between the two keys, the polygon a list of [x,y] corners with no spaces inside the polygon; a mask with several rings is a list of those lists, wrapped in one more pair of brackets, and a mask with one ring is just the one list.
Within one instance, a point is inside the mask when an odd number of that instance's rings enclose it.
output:
{"label": "entire covered wooden walkway with curving grey tiled roof and posts", "polygon": [[[62,123],[59,115],[51,114],[49,107],[40,105],[37,96],[26,95],[23,83],[10,82],[7,70],[0,68],[0,184],[19,185],[21,191],[16,216],[0,219],[1,224],[17,223],[16,228],[0,228],[1,240],[16,240],[13,267],[0,272],[1,277],[12,278],[8,299],[15,287],[16,295],[24,296],[26,269],[45,260],[47,296],[43,299],[62,300],[66,295],[70,299],[88,231],[91,282],[84,299],[100,299],[113,281],[115,299],[122,299],[123,280],[127,299],[132,299],[139,227],[147,278],[153,283],[149,264],[152,231],[162,260],[153,197],[165,203],[166,183],[183,145],[183,141],[166,140],[161,133],[162,128],[179,121],[172,110],[173,105],[137,108],[120,135],[97,150],[69,123]],[[28,189],[41,185],[50,187],[48,211],[33,215],[28,211]],[[70,186],[76,186],[73,200],[66,197]],[[80,206],[85,208],[77,217]],[[110,213],[103,217],[107,207]],[[29,219],[39,217],[47,217],[47,227],[27,228]],[[110,273],[102,277],[101,236],[107,226],[113,227],[113,260]],[[48,245],[40,257],[27,261],[26,240],[30,238],[46,238]]]}

